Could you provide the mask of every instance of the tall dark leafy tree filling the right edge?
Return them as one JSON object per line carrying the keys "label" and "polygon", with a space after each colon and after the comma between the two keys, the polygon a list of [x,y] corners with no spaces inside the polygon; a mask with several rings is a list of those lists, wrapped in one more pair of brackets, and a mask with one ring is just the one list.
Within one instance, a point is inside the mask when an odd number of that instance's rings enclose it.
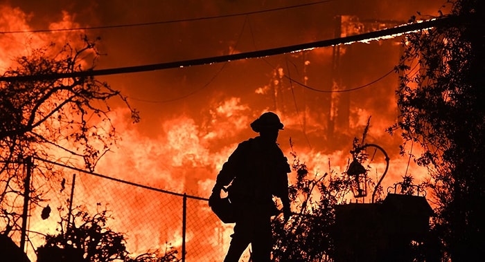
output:
{"label": "tall dark leafy tree filling the right edge", "polygon": [[389,132],[400,130],[405,144],[423,149],[414,157],[433,178],[446,256],[473,261],[484,257],[485,246],[484,12],[479,0],[451,3],[448,24],[403,41],[400,119]]}

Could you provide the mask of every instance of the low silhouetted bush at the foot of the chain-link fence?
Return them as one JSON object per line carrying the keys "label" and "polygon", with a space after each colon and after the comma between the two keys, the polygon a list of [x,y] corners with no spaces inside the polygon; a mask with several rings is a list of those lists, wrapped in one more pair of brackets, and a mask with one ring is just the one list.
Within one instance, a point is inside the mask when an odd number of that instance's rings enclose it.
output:
{"label": "low silhouetted bush at the foot of the chain-link fence", "polygon": [[62,218],[59,234],[46,236],[46,243],[37,248],[37,262],[177,262],[177,250],[166,247],[160,251],[135,256],[125,247],[125,237],[107,227],[107,210],[90,216],[80,209],[71,221]]}

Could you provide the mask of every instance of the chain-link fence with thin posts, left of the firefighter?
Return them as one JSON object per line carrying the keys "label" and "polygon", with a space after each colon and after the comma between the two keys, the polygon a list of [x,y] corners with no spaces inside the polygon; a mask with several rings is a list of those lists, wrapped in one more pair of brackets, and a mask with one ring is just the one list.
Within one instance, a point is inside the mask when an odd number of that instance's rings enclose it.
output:
{"label": "chain-link fence with thin posts, left of the firefighter", "polygon": [[[46,201],[29,205],[25,250],[30,261],[37,260],[35,250],[45,243],[46,235],[59,234],[60,228],[65,228],[60,224],[61,217],[69,216],[68,220],[73,221],[73,216],[81,209],[90,215],[107,210],[106,227],[123,234],[127,251],[133,258],[147,252],[164,254],[167,250],[177,250],[180,261],[224,259],[233,225],[219,221],[211,212],[208,199],[110,178],[56,162],[35,161],[73,173],[48,180],[43,174],[34,172],[31,175],[30,198],[42,193]],[[48,217],[47,206],[51,209]],[[20,242],[21,236],[12,234],[12,238]],[[241,261],[249,261],[249,252]]]}

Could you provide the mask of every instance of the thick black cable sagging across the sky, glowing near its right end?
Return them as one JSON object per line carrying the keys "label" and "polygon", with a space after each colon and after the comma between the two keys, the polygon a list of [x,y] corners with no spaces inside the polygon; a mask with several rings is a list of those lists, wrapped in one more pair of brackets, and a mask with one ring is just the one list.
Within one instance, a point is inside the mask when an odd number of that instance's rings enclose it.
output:
{"label": "thick black cable sagging across the sky, glowing near its right end", "polygon": [[249,58],[261,58],[272,55],[281,55],[285,53],[293,53],[301,50],[310,50],[314,48],[321,48],[327,46],[335,46],[338,44],[351,44],[358,41],[370,41],[373,39],[380,39],[382,37],[389,37],[394,35],[402,35],[407,32],[416,30],[423,30],[425,28],[432,28],[436,26],[443,26],[450,23],[451,17],[441,17],[437,19],[423,21],[416,24],[405,24],[403,26],[397,26],[394,28],[387,28],[374,32],[367,32],[360,35],[351,35],[349,37],[339,37],[334,39],[327,39],[322,41],[314,41],[306,44],[298,44],[294,46],[283,46],[279,48],[271,48],[266,50],[257,50],[247,53],[237,53],[232,55],[222,55],[217,57],[206,57],[200,59],[189,59],[175,62],[166,62],[159,64],[145,64],[141,66],[127,66],[121,68],[107,68],[100,70],[88,70],[88,71],[76,71],[70,73],[50,73],[42,75],[15,75],[15,76],[2,76],[0,81],[12,82],[12,81],[37,81],[46,79],[62,79],[71,77],[94,77],[98,75],[115,75],[123,73],[139,73],[146,71],[157,71],[168,68],[182,68],[186,66],[199,66],[202,64],[213,64],[220,62],[231,62],[240,59]]}

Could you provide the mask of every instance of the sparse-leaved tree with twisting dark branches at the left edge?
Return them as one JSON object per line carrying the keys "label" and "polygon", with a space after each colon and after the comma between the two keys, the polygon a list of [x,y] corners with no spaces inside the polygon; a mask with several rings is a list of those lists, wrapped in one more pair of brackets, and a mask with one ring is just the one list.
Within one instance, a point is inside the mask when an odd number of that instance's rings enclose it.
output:
{"label": "sparse-leaved tree with twisting dark branches at the left edge", "polygon": [[[119,91],[94,77],[43,77],[92,70],[100,55],[96,41],[81,40],[79,45],[32,50],[3,73],[12,79],[0,82],[0,231],[6,234],[19,229],[24,205],[19,196],[27,187],[28,171],[36,179],[30,189],[33,205],[43,200],[39,185],[61,183],[62,169],[36,159],[93,171],[116,142],[108,102],[117,97],[130,109],[132,120],[139,120]],[[15,79],[22,76],[34,78]]]}

